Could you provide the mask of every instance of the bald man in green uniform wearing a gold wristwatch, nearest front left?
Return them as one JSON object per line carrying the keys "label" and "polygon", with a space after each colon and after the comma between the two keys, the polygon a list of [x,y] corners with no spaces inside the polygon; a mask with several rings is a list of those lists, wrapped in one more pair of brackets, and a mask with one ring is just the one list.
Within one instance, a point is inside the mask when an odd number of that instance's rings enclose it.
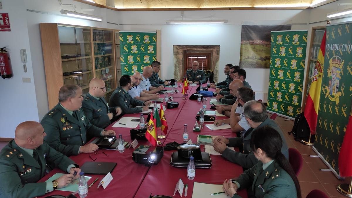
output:
{"label": "bald man in green uniform wearing a gold wristwatch, nearest front left", "polygon": [[[51,148],[46,142],[44,128],[38,122],[19,124],[15,138],[0,151],[0,197],[39,197],[79,178],[81,169],[67,156]],[[50,168],[60,168],[69,174],[56,180],[39,182]],[[77,173],[74,176],[74,173]]]}

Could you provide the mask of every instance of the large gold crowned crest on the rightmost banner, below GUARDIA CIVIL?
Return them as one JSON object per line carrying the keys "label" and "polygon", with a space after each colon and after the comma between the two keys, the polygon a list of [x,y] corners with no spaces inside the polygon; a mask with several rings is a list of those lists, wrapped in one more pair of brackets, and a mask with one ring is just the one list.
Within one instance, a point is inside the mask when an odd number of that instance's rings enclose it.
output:
{"label": "large gold crowned crest on the rightmost banner, below GUARDIA CIVIL", "polygon": [[[344,62],[340,56],[333,56],[329,60],[328,67],[328,77],[329,77],[329,85],[325,86],[325,98],[329,97],[331,101],[335,101],[336,104],[339,104],[339,97],[341,96],[340,88],[340,80],[343,75],[341,73],[341,68],[344,66]],[[340,88],[341,89],[341,88]]]}

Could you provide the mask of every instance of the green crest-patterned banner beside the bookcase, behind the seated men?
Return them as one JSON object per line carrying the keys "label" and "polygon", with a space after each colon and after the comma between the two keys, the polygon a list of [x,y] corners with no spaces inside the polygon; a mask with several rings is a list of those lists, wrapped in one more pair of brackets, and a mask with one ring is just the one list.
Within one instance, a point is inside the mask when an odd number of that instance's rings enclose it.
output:
{"label": "green crest-patterned banner beside the bookcase, behind the seated men", "polygon": [[156,61],[156,32],[120,31],[122,75],[143,71]]}

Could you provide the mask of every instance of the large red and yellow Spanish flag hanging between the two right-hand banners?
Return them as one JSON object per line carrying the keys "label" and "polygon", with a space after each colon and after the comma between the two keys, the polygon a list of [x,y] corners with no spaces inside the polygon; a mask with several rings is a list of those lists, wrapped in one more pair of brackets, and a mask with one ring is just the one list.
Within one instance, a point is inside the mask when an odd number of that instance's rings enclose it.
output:
{"label": "large red and yellow Spanish flag hanging between the two right-hand banners", "polygon": [[315,63],[312,84],[310,84],[309,95],[307,98],[306,107],[304,107],[304,117],[306,117],[310,133],[315,134],[316,122],[318,120],[318,109],[320,101],[321,81],[324,69],[324,54],[325,54],[326,31],[320,44],[318,60]]}

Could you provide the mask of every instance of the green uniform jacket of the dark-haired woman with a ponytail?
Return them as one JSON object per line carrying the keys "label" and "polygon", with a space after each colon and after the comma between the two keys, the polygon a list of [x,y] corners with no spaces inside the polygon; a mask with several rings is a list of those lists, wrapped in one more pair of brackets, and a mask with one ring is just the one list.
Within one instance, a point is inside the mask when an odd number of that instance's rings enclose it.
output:
{"label": "green uniform jacket of the dark-haired woman with a ponytail", "polygon": [[[296,186],[291,176],[276,161],[263,170],[259,161],[242,173],[236,181],[240,189],[250,188],[256,198],[297,198]],[[240,198],[238,194],[232,198]]]}

